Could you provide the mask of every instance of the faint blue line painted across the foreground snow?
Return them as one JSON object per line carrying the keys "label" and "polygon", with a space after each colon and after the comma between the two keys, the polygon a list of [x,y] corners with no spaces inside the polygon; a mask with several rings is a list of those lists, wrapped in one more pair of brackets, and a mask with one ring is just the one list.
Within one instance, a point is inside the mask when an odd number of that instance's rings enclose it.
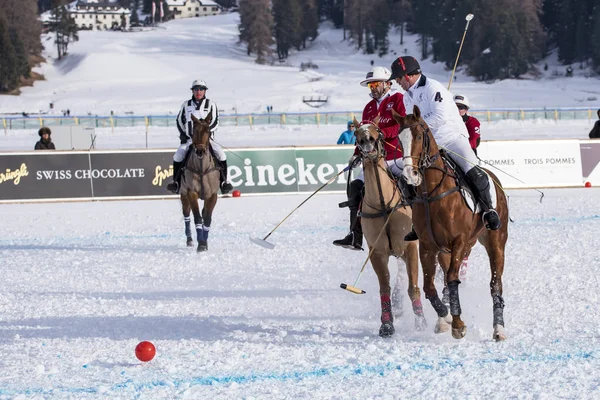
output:
{"label": "faint blue line painted across the foreground snow", "polygon": [[[489,364],[506,364],[510,362],[522,363],[551,363],[551,362],[568,362],[572,360],[598,360],[595,351],[567,353],[567,354],[525,354],[517,356],[506,356],[504,358],[487,358],[480,359],[474,362],[465,360],[467,366],[485,366]],[[404,365],[404,364],[403,364]],[[419,361],[416,363],[403,366],[395,363],[387,363],[380,365],[344,365],[331,368],[316,368],[309,371],[291,371],[291,372],[270,372],[263,374],[249,375],[229,375],[229,376],[204,376],[192,377],[187,379],[175,379],[172,381],[153,381],[146,383],[136,383],[131,379],[118,383],[110,387],[108,391],[121,391],[126,389],[134,389],[139,391],[142,389],[152,389],[155,387],[171,387],[182,388],[189,386],[214,386],[219,384],[246,384],[261,381],[300,381],[308,378],[319,378],[330,375],[343,375],[345,377],[361,376],[361,375],[379,375],[385,376],[386,373],[394,371],[426,371],[439,369],[457,369],[465,367],[465,363],[460,360],[442,359],[440,361]],[[1,396],[16,396],[16,395],[52,395],[57,393],[104,393],[106,390],[100,391],[95,387],[77,388],[77,387],[55,387],[53,389],[44,388],[27,388],[27,389],[8,389],[0,388]]]}

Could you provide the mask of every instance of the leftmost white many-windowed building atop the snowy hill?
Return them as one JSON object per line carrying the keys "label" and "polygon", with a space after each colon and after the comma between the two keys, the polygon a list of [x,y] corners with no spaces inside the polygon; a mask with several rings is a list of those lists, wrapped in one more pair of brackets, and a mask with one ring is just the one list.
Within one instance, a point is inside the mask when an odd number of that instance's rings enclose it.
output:
{"label": "leftmost white many-windowed building atop the snowy hill", "polygon": [[69,15],[79,29],[129,29],[131,11],[114,1],[79,0],[69,8]]}

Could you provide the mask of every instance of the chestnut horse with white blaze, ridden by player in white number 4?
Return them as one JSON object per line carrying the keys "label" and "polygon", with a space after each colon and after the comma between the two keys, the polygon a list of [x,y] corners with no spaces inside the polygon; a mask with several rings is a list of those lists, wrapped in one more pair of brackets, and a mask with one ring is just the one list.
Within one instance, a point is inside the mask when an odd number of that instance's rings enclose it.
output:
{"label": "chestnut horse with white blaze, ridden by player in white number 4", "polygon": [[438,314],[435,332],[447,331],[450,322],[448,308],[438,297],[434,284],[436,258],[444,270],[448,286],[452,336],[461,339],[466,335],[467,328],[460,319],[458,273],[465,255],[469,254],[479,241],[485,247],[490,260],[493,339],[506,339],[502,273],[508,239],[508,203],[498,178],[485,170],[495,186],[496,211],[502,221],[502,227],[492,231],[484,227],[480,210],[474,206],[476,211],[472,211],[461,195],[456,180],[457,173],[442,158],[431,130],[421,118],[419,107],[415,106],[413,113],[406,117],[396,113],[394,119],[400,125],[399,137],[404,155],[403,175],[414,188],[413,224],[419,237],[419,254],[424,274],[423,291]]}

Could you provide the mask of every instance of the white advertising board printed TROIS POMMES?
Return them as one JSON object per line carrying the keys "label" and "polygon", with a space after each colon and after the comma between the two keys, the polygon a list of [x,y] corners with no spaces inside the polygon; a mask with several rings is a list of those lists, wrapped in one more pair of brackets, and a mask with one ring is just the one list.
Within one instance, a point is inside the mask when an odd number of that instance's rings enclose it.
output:
{"label": "white advertising board printed TROIS POMMES", "polygon": [[507,189],[582,185],[579,140],[488,141],[477,153]]}

